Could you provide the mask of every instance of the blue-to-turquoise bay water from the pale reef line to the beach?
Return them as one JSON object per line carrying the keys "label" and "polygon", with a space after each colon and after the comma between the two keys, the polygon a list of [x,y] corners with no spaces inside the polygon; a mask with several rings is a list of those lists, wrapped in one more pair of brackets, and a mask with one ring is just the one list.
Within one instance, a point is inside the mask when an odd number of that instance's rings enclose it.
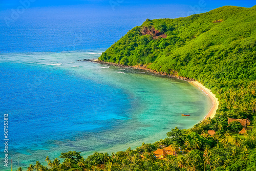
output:
{"label": "blue-to-turquoise bay water from the pale reef line to the beach", "polygon": [[0,55],[0,109],[9,114],[14,166],[44,163],[61,152],[87,156],[152,143],[175,126],[193,126],[210,110],[209,97],[188,82],[77,61],[99,55]]}

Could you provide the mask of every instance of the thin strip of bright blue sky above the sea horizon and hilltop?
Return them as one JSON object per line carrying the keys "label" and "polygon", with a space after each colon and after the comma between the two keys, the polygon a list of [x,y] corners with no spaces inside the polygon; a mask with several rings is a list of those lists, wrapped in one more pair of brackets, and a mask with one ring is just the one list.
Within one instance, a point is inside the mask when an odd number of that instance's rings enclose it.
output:
{"label": "thin strip of bright blue sky above the sea horizon and hilltop", "polygon": [[0,0],[0,8],[11,9],[18,7],[21,2],[30,1],[30,8],[33,7],[49,7],[49,6],[91,6],[91,7],[108,7],[108,6],[124,6],[124,7],[133,7],[133,6],[151,6],[151,5],[181,5],[181,6],[197,6],[200,4],[206,4],[208,9],[214,9],[222,7],[225,5],[234,5],[242,7],[252,7],[256,5],[255,0],[225,0],[225,1],[214,1],[214,0],[173,0],[173,1],[152,1],[152,0]]}

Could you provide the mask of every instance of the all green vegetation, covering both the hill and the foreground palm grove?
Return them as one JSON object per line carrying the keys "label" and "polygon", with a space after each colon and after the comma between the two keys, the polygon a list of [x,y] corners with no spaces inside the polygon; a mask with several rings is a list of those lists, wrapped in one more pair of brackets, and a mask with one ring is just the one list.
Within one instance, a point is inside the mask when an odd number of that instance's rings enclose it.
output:
{"label": "all green vegetation, covering both the hill and the foreground palm grove", "polygon": [[[167,35],[142,35],[148,28]],[[46,159],[28,170],[256,170],[256,6],[227,6],[203,14],[176,19],[147,19],[100,56],[100,60],[123,65],[144,65],[167,74],[194,78],[220,100],[217,115],[188,130],[178,128],[167,138],[132,150],[95,152],[84,159],[77,152],[61,153],[63,160]],[[242,125],[228,118],[249,118]],[[207,131],[215,130],[214,136]],[[172,145],[176,155],[159,160],[152,153]],[[142,155],[142,157],[141,157]],[[20,170],[22,168],[19,168]]]}

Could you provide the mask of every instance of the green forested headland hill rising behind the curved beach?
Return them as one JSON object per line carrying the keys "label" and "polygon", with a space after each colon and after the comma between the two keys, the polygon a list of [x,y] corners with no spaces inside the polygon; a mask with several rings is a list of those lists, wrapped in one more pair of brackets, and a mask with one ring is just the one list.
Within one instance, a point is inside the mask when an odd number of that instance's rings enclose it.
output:
{"label": "green forested headland hill rising behind the curved beach", "polygon": [[218,113],[256,112],[256,6],[225,6],[176,19],[146,19],[99,57],[194,78],[217,94]]}

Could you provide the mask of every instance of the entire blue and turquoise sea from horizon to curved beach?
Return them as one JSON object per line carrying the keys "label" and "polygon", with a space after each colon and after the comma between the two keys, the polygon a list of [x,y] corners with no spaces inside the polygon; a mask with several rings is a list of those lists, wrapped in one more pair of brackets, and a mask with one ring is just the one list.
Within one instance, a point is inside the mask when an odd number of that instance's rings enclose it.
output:
{"label": "entire blue and turquoise sea from horizon to curved beach", "polygon": [[97,10],[26,9],[9,26],[3,18],[11,11],[0,12],[0,140],[4,114],[9,139],[9,167],[2,143],[0,170],[10,170],[11,159],[26,170],[61,152],[86,157],[134,148],[165,138],[175,126],[189,128],[209,112],[209,97],[188,82],[78,61],[98,58],[146,18],[177,17],[167,8]]}

